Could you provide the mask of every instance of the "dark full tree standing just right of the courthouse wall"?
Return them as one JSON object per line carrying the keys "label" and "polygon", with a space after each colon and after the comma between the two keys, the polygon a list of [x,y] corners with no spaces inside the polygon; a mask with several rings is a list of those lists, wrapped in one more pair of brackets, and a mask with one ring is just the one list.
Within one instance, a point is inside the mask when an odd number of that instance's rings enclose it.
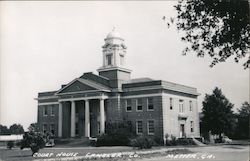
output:
{"label": "dark full tree standing just right of the courthouse wall", "polygon": [[216,87],[211,95],[206,94],[202,104],[201,126],[204,132],[211,131],[212,134],[221,136],[224,133],[231,136],[235,124],[233,104],[222,91]]}

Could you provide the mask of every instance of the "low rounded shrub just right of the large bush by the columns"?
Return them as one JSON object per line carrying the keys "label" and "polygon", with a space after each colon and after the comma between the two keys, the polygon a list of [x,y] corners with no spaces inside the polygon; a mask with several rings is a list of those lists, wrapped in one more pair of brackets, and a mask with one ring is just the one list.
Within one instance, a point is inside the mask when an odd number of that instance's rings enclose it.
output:
{"label": "low rounded shrub just right of the large bush by the columns", "polygon": [[150,149],[154,145],[154,141],[150,137],[142,135],[132,139],[130,144],[139,149]]}

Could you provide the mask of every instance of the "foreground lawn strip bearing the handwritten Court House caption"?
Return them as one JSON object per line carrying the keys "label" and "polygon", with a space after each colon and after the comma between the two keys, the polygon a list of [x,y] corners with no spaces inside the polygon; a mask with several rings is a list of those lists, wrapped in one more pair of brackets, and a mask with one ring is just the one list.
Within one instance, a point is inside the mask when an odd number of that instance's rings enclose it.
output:
{"label": "foreground lawn strip bearing the handwritten Court House caption", "polygon": [[[128,160],[133,158],[151,158],[151,157],[158,157],[158,156],[165,156],[168,154],[187,154],[192,153],[188,149],[173,149],[173,148],[153,148],[153,149],[147,149],[147,150],[135,150],[131,147],[98,147],[98,148],[45,148],[41,149],[39,151],[40,155],[39,157],[33,157],[32,152],[30,149],[24,149],[20,150],[18,148],[14,148],[12,150],[9,149],[0,149],[0,160],[4,161],[29,161],[29,160],[39,160],[44,159],[46,160],[60,160],[60,158],[65,158],[66,156],[57,156],[60,154],[68,154],[68,155],[74,155],[77,154],[76,157],[70,157],[68,156],[68,159],[74,158],[77,161],[92,161],[92,160],[100,160],[100,158],[84,158],[83,156],[88,155],[98,155],[98,154],[114,154],[114,153],[122,153],[121,157],[115,157],[115,158],[102,158],[102,161],[118,161],[118,160]],[[52,155],[51,155],[52,154]],[[127,154],[127,155],[125,155]],[[50,155],[49,157],[45,157],[44,155]]]}

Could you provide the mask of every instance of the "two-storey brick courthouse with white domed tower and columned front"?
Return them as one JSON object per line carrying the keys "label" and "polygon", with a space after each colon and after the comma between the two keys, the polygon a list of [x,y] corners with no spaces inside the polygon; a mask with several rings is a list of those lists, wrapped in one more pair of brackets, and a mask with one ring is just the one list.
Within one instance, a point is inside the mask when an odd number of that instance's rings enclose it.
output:
{"label": "two-storey brick courthouse with white domed tower and columned front", "polygon": [[98,75],[87,72],[59,90],[38,93],[40,129],[59,138],[93,138],[105,133],[107,123],[126,121],[137,135],[199,137],[197,89],[132,79],[124,39],[112,31],[104,40]]}

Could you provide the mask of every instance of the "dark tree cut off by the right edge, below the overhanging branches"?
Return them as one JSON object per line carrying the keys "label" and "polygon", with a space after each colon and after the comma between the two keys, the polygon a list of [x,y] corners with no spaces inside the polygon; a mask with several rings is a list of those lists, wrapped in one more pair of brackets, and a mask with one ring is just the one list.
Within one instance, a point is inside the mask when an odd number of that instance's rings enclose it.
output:
{"label": "dark tree cut off by the right edge, below the overhanging branches", "polygon": [[240,139],[249,139],[249,118],[250,118],[250,104],[244,102],[237,113],[237,129],[236,137]]}

